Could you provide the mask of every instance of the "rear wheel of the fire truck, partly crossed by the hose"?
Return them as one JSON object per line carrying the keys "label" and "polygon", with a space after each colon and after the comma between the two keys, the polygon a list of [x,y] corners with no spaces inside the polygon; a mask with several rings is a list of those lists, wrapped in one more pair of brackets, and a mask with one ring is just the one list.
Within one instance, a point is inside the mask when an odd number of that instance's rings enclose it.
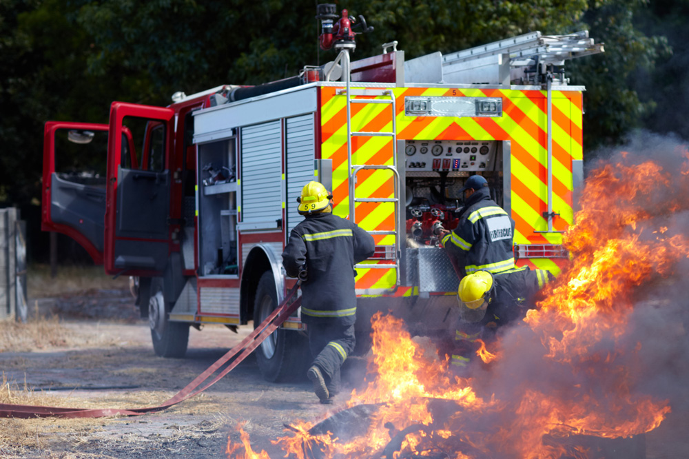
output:
{"label": "rear wheel of the fire truck, partly crossed by the hose", "polygon": [[[254,329],[278,307],[273,273],[260,276],[254,300]],[[277,329],[256,348],[258,369],[271,383],[305,378],[311,361],[307,340],[298,332]]]}

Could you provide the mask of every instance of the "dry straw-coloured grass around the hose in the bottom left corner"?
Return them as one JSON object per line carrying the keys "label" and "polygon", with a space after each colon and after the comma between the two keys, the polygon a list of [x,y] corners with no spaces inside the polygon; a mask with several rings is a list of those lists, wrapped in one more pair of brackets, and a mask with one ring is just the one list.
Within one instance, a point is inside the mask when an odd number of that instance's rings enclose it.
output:
{"label": "dry straw-coloured grass around the hose in the bottom left corner", "polygon": [[[111,398],[85,399],[68,396],[52,396],[43,392],[34,392],[24,383],[13,383],[2,376],[0,403],[14,405],[40,405],[57,407],[92,408],[132,408],[159,405],[172,394],[163,392],[141,391],[136,393],[117,394]],[[211,436],[224,436],[226,426],[235,422],[224,414],[218,402],[200,396],[197,403],[182,403],[168,414],[189,415],[203,412],[207,419],[200,423],[180,427],[160,422],[151,423],[146,417],[126,418],[37,418],[37,419],[0,419],[0,458],[46,457],[46,458],[106,458],[129,457],[135,452],[142,452],[148,457],[168,457],[169,453],[181,453],[190,444],[205,440]],[[215,414],[214,414],[215,413]],[[130,421],[131,419],[131,421]],[[107,425],[114,422],[127,422],[127,426],[140,423],[141,429],[135,429],[116,436],[112,442],[104,443],[103,433]],[[167,429],[163,432],[159,429]],[[112,427],[110,427],[112,431]],[[79,451],[81,450],[81,451]],[[141,450],[141,451],[138,451]],[[62,451],[57,452],[57,451]],[[72,451],[77,456],[70,456]],[[65,456],[66,454],[66,456]]]}

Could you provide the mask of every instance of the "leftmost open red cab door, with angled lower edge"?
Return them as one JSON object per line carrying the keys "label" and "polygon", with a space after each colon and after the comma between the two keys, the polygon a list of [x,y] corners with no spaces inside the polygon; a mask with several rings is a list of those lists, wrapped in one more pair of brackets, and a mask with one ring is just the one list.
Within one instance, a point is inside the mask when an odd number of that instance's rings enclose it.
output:
{"label": "leftmost open red cab door, with angled lower edge", "polygon": [[105,124],[48,121],[43,132],[41,230],[70,236],[103,264]]}

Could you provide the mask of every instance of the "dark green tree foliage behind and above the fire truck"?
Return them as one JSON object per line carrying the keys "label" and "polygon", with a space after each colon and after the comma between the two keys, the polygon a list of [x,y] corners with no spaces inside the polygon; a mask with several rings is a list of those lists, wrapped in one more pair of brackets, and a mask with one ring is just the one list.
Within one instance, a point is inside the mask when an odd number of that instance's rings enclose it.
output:
{"label": "dark green tree foliage behind and above the fire truck", "polygon": [[[354,59],[393,40],[411,59],[588,27],[606,53],[567,69],[588,88],[586,147],[615,143],[642,121],[661,130],[654,101],[689,96],[688,58],[654,72],[669,55],[660,21],[672,19],[679,42],[689,15],[679,0],[651,9],[644,0],[349,0],[341,8],[375,28],[358,37]],[[331,61],[334,51],[318,50],[315,14],[315,2],[280,0],[0,0],[0,200],[40,198],[45,121],[105,123],[114,100],[167,105],[178,90],[265,83]]]}

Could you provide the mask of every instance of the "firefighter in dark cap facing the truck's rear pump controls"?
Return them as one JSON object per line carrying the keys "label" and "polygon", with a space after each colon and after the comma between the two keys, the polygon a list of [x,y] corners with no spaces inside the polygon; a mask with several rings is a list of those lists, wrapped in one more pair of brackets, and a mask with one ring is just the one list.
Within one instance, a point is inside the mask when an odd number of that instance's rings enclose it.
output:
{"label": "firefighter in dark cap facing the truck's rear pump controls", "polygon": [[512,238],[515,222],[491,199],[483,176],[466,179],[464,207],[453,232],[442,233],[442,245],[460,279],[480,270],[497,274],[515,267]]}

